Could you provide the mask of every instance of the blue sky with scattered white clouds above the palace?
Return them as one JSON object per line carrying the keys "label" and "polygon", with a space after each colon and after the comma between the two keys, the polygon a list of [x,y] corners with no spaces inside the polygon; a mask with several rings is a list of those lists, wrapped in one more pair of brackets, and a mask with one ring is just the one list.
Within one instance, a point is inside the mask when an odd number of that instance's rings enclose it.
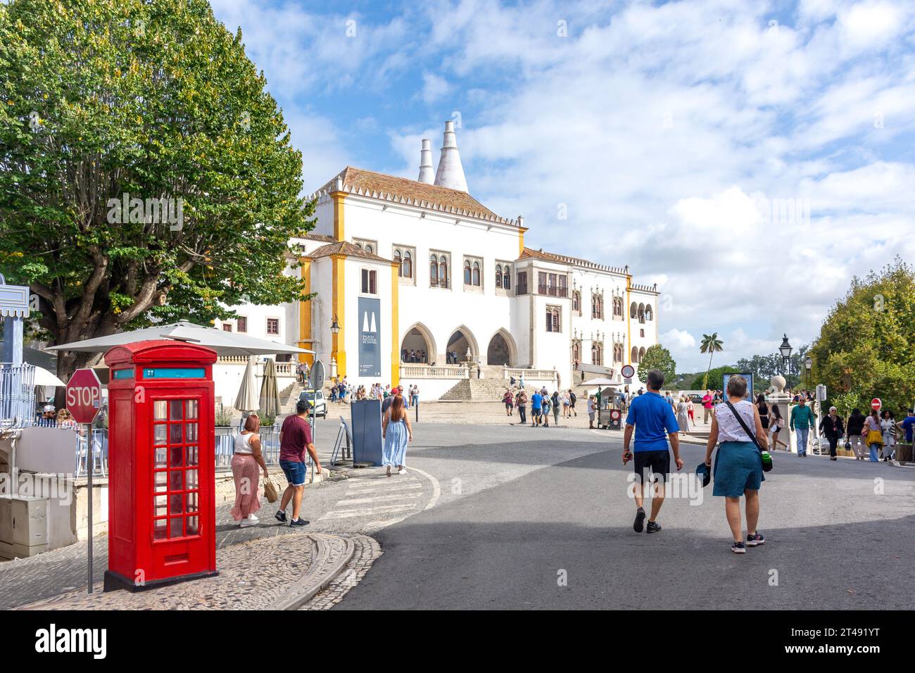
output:
{"label": "blue sky with scattered white clouds above the palace", "polygon": [[470,193],[529,245],[659,284],[681,371],[704,332],[722,363],[809,342],[854,274],[915,258],[915,3],[212,4],[307,190],[415,179],[459,120]]}

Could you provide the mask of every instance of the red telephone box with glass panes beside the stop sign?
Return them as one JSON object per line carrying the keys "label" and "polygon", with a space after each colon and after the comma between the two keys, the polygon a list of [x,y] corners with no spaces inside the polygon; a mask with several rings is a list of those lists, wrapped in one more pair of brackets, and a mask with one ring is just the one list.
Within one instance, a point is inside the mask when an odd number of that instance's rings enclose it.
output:
{"label": "red telephone box with glass panes beside the stop sign", "polygon": [[105,353],[111,369],[106,592],[217,574],[215,362],[210,348],[166,340]]}

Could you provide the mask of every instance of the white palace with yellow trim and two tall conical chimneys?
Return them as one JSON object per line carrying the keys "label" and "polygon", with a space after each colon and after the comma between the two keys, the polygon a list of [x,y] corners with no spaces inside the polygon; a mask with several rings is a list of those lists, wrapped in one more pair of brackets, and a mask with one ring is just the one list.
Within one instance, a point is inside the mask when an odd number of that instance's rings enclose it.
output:
{"label": "white palace with yellow trim and two tall conical chimneys", "polygon": [[317,224],[291,241],[301,266],[287,273],[316,297],[232,307],[222,329],[314,350],[309,364],[355,385],[417,384],[426,400],[478,376],[568,387],[579,363],[617,380],[638,367],[658,342],[657,286],[526,247],[521,216],[468,193],[452,123],[435,171],[422,142],[415,180],[347,167],[310,197]]}

